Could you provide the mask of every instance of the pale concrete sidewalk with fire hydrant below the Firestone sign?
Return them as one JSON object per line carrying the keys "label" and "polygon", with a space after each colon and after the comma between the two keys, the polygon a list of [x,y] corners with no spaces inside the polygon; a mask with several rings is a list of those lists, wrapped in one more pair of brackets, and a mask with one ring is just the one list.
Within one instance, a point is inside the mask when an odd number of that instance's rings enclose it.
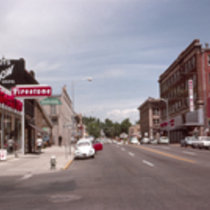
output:
{"label": "pale concrete sidewalk with fire hydrant below the Firestone sign", "polygon": [[[56,169],[50,168],[52,156],[56,156]],[[74,146],[52,146],[42,149],[41,154],[18,154],[18,158],[9,155],[6,161],[0,161],[0,176],[53,173],[67,169],[74,159]]]}

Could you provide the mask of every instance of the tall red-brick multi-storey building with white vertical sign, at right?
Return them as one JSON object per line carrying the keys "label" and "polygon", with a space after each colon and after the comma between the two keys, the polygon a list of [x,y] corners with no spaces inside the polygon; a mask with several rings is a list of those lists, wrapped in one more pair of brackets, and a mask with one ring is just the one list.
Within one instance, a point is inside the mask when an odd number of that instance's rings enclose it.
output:
{"label": "tall red-brick multi-storey building with white vertical sign, at right", "polygon": [[[161,130],[170,142],[179,142],[198,131],[205,135],[209,127],[210,49],[194,40],[159,77]],[[209,115],[210,117],[210,115]]]}

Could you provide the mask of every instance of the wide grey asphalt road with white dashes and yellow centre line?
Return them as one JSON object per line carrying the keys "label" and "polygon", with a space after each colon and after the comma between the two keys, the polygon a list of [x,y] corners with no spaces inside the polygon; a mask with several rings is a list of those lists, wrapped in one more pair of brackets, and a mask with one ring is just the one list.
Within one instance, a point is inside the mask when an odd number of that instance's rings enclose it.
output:
{"label": "wide grey asphalt road with white dashes and yellow centre line", "polygon": [[66,170],[0,178],[1,210],[209,210],[210,151],[105,145]]}

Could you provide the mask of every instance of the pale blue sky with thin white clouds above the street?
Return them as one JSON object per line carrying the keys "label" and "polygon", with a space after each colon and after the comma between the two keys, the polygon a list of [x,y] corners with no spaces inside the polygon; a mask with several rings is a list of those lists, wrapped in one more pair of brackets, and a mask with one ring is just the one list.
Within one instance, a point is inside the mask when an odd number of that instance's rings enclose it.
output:
{"label": "pale blue sky with thin white clouds above the street", "polygon": [[66,85],[72,99],[73,86],[75,111],[102,121],[138,121],[178,55],[194,39],[210,42],[209,0],[0,0],[0,8],[0,57],[24,58],[53,94]]}

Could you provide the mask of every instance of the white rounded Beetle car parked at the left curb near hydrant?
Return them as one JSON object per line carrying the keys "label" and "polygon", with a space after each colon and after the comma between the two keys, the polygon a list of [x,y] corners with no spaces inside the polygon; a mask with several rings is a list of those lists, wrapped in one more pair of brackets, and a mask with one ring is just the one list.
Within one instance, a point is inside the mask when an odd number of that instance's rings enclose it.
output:
{"label": "white rounded Beetle car parked at the left curb near hydrant", "polygon": [[88,139],[80,139],[76,144],[76,149],[74,152],[74,157],[76,158],[86,158],[86,157],[95,157],[95,149],[92,146],[92,143]]}

